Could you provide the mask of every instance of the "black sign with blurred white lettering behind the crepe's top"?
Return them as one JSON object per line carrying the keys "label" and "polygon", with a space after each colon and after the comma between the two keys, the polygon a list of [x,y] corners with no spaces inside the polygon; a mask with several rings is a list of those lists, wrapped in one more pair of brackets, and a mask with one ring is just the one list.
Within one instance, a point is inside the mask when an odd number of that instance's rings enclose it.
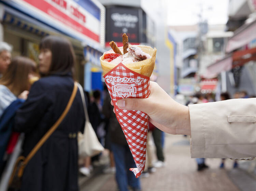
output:
{"label": "black sign with blurred white lettering behind the crepe's top", "polygon": [[117,46],[123,46],[122,36],[126,33],[131,44],[139,44],[139,22],[142,21],[139,8],[110,7],[106,10],[106,46],[115,41]]}

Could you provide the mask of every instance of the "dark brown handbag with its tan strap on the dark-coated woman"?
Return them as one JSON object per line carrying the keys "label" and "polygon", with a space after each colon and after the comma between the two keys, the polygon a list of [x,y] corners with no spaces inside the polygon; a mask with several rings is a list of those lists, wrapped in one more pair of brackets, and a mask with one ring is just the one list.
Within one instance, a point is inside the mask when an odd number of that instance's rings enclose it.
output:
{"label": "dark brown handbag with its tan strap on the dark-coated woman", "polygon": [[46,132],[46,134],[40,139],[40,141],[34,146],[34,148],[30,151],[27,157],[19,156],[15,162],[14,169],[12,171],[11,178],[9,180],[9,188],[19,189],[22,184],[22,175],[27,163],[34,156],[34,154],[40,149],[40,147],[44,144],[44,142],[52,135],[52,133],[56,130],[62,120],[66,117],[77,92],[77,82],[74,83],[74,88],[69,99],[69,102],[59,117],[59,119],[54,123],[54,125]]}

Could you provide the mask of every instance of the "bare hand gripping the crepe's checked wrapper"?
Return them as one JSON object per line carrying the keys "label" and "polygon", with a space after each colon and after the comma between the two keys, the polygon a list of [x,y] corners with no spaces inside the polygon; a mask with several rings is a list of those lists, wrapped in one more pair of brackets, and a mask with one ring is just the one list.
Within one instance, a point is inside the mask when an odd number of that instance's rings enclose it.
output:
{"label": "bare hand gripping the crepe's checked wrapper", "polygon": [[121,99],[117,101],[117,106],[121,109],[145,112],[150,117],[150,122],[163,132],[191,135],[188,107],[175,102],[155,82],[150,82],[148,98]]}

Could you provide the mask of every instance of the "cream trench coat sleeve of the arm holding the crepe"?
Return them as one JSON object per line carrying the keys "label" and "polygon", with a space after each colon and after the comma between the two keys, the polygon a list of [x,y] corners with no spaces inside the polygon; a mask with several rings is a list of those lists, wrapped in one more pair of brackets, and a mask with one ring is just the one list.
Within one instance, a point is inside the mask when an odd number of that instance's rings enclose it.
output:
{"label": "cream trench coat sleeve of the arm holding the crepe", "polygon": [[189,105],[192,158],[256,156],[256,98]]}

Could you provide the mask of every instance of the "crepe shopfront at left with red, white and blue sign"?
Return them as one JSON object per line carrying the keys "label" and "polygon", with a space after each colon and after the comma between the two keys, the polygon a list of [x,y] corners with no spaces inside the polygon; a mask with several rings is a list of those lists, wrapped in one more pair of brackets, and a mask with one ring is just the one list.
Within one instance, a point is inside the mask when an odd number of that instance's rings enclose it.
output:
{"label": "crepe shopfront at left with red, white and blue sign", "polygon": [[92,60],[84,49],[104,51],[104,6],[97,0],[0,0],[0,7],[3,40],[13,46],[13,56],[38,61],[44,36],[64,36],[72,42],[77,80],[84,84],[84,65]]}

